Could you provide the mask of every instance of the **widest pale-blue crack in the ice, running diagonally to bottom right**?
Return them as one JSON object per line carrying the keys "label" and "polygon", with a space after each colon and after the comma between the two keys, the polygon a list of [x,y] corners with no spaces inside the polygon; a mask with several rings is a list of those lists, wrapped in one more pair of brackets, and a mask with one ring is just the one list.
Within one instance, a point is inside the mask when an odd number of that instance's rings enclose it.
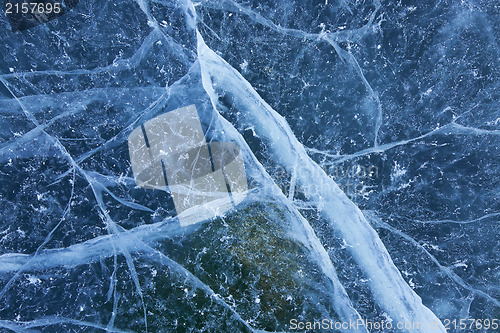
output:
{"label": "widest pale-blue crack in the ice, running diagonally to bottom right", "polygon": [[[198,57],[202,66],[204,86],[211,86],[218,95],[232,99],[239,125],[254,126],[259,138],[265,141],[271,159],[294,172],[296,159],[301,165],[297,185],[308,200],[322,203],[321,214],[332,228],[341,233],[350,245],[352,256],[370,279],[375,300],[393,320],[422,322],[422,332],[446,332],[439,319],[422,304],[402,278],[392,259],[359,208],[339,189],[337,184],[307,155],[304,147],[285,119],[274,111],[253,87],[227,62],[208,48],[198,34]],[[207,88],[206,88],[207,89]],[[217,96],[211,96],[218,103]],[[431,329],[436,322],[438,329]],[[409,330],[417,333],[416,330]]]}

